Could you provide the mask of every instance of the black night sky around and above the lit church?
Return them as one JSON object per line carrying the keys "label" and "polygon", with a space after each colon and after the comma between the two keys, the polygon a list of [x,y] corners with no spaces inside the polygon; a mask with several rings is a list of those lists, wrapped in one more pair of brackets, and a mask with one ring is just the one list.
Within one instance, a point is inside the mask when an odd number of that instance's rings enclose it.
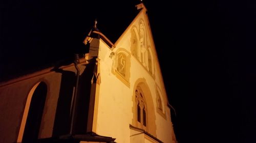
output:
{"label": "black night sky around and above the lit church", "polygon": [[[0,80],[83,50],[97,18],[114,42],[137,1],[1,2]],[[144,1],[179,142],[256,142],[256,4]],[[118,36],[120,36],[118,35]]]}

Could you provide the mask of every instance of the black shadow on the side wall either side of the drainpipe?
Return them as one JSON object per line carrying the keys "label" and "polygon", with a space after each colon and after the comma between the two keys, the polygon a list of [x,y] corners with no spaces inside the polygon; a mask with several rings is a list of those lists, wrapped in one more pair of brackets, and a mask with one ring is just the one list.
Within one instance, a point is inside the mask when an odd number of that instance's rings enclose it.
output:
{"label": "black shadow on the side wall either side of the drainpipe", "polygon": [[[89,113],[90,93],[91,93],[91,80],[94,74],[95,59],[89,61],[86,69],[79,77],[78,92],[76,101],[76,111],[73,122],[73,134],[86,134],[87,122]],[[61,135],[70,134],[71,128],[71,102],[73,90],[75,88],[76,73],[72,71],[65,71],[62,69],[55,70],[62,73],[61,84],[59,91],[59,98],[57,103],[53,136],[58,137]]]}

